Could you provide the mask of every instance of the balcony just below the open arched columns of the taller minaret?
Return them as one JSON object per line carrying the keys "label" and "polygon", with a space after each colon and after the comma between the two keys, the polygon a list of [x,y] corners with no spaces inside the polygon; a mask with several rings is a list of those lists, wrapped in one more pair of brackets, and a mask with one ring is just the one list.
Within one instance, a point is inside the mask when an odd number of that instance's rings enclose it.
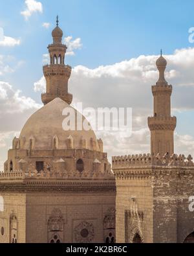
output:
{"label": "balcony just below the open arched columns of the taller minaret", "polygon": [[72,68],[70,65],[64,64],[52,64],[52,65],[44,65],[43,73],[45,76],[66,76],[70,78]]}

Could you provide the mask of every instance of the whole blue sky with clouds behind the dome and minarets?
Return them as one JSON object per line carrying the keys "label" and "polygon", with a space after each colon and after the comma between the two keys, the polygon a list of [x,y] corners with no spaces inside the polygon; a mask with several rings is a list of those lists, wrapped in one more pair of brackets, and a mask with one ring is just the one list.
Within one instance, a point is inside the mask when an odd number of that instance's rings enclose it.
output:
{"label": "whole blue sky with clouds behind the dome and minarets", "polygon": [[[149,152],[147,116],[162,48],[177,116],[175,152],[194,156],[194,2],[191,0],[0,0],[0,169],[14,135],[41,108],[42,66],[59,16],[69,91],[84,106],[133,108],[133,134],[99,132],[114,155]],[[86,93],[87,92],[87,93]]]}

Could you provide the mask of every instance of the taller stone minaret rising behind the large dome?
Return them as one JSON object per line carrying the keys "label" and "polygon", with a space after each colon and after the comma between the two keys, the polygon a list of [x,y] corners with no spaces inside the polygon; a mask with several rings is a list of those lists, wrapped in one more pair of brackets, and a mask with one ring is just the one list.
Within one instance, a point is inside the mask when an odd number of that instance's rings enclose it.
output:
{"label": "taller stone minaret rising behind the large dome", "polygon": [[71,67],[65,65],[65,53],[67,46],[63,45],[63,31],[58,27],[58,16],[56,28],[52,30],[53,43],[48,45],[50,54],[50,65],[43,66],[43,73],[47,81],[47,91],[41,95],[43,104],[59,97],[68,104],[72,102],[72,95],[68,93],[68,81]]}

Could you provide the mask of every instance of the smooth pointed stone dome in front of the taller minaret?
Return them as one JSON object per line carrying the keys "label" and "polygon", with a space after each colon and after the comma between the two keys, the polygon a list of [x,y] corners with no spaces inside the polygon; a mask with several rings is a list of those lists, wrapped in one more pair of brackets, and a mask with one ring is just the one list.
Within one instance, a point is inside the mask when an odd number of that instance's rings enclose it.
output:
{"label": "smooth pointed stone dome in front of the taller minaret", "polygon": [[67,141],[70,140],[70,148],[100,151],[94,131],[77,130],[77,119],[75,120],[75,130],[63,130],[62,124],[65,115],[62,115],[62,112],[65,108],[74,110],[75,116],[83,117],[81,113],[60,98],[52,100],[32,114],[26,122],[19,135],[21,149],[29,150],[30,144],[33,150],[52,149],[55,139],[57,149],[69,148]]}

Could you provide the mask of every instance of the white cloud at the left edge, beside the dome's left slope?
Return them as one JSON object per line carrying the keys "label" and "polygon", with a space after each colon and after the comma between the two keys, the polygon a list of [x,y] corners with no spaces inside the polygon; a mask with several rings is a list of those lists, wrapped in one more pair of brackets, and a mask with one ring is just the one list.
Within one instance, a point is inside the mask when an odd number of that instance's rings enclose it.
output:
{"label": "white cloud at the left edge, beside the dome's left slope", "polygon": [[42,105],[14,90],[8,82],[0,81],[0,171],[12,139],[18,137],[28,117]]}

